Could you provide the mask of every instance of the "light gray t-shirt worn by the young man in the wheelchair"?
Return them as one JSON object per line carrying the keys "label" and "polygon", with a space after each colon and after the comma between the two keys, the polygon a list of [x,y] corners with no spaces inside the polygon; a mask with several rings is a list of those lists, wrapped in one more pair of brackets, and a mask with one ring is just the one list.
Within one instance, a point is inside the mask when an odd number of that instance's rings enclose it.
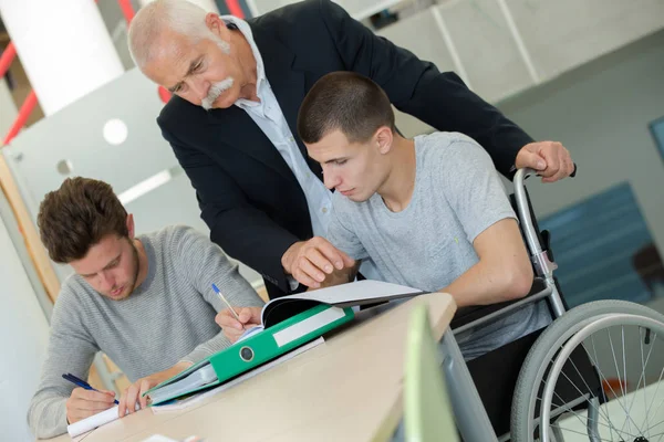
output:
{"label": "light gray t-shirt worn by the young man in the wheelchair", "polygon": [[[353,202],[334,193],[329,241],[353,259],[371,257],[382,281],[426,292],[448,286],[479,259],[473,241],[494,223],[516,219],[488,154],[457,133],[415,137],[413,197],[392,212],[377,193]],[[470,330],[457,340],[466,359],[550,323],[539,303]]]}

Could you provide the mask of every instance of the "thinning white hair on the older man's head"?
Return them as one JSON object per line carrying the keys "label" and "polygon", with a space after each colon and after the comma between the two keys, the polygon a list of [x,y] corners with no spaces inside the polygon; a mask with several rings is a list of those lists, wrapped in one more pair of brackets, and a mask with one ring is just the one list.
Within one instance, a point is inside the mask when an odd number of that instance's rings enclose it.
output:
{"label": "thinning white hair on the older man's head", "polygon": [[165,30],[174,31],[191,39],[193,43],[201,39],[210,39],[226,53],[230,46],[206,25],[205,9],[186,0],[155,0],[136,13],[132,20],[127,35],[129,53],[138,69],[163,51],[159,48],[159,35]]}

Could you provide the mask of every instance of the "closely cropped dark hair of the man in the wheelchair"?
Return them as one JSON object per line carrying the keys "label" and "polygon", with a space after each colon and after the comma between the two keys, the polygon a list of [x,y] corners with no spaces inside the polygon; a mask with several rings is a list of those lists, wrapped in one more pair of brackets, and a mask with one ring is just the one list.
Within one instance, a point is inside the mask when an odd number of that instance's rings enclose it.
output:
{"label": "closely cropped dark hair of the man in the wheelchair", "polygon": [[367,141],[378,127],[394,130],[394,110],[381,86],[354,72],[333,72],[309,91],[298,114],[302,141],[318,143],[332,130],[349,141]]}

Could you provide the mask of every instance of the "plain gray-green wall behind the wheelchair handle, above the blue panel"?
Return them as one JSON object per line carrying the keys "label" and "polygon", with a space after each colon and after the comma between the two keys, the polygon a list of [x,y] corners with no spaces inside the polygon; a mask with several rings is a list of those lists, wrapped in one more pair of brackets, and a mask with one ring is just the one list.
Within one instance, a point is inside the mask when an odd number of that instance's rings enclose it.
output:
{"label": "plain gray-green wall behind the wheelchair handle, above the blue panel", "polygon": [[536,139],[560,140],[579,175],[529,181],[538,217],[630,181],[664,252],[664,158],[649,123],[664,116],[664,32],[605,55],[498,106]]}

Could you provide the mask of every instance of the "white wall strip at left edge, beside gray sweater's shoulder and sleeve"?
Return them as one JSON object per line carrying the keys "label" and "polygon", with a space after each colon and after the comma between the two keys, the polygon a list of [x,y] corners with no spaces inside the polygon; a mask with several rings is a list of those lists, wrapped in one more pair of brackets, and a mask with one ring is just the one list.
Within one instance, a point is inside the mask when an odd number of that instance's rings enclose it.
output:
{"label": "white wall strip at left edge, beside gray sweater's shoulder and sleeve", "polygon": [[0,429],[2,440],[23,442],[33,440],[25,417],[49,325],[10,239],[9,222],[13,220],[0,218]]}

